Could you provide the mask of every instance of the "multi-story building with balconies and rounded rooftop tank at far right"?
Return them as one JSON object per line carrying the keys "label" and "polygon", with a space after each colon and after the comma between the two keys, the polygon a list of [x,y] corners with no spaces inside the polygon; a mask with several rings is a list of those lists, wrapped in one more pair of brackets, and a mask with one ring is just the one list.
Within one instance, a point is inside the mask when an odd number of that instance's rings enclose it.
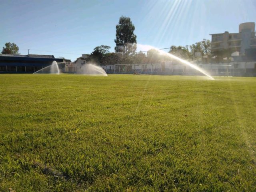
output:
{"label": "multi-story building with balconies and rounded rooftop tank at far right", "polygon": [[255,23],[246,22],[239,25],[239,33],[218,33],[212,36],[212,55],[228,56],[238,51],[240,55],[246,49],[256,48]]}

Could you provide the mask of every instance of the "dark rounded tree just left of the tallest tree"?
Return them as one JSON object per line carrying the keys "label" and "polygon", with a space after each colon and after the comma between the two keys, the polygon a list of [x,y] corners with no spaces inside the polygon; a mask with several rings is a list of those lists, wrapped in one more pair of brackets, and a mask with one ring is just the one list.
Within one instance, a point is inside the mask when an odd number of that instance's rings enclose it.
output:
{"label": "dark rounded tree just left of the tallest tree", "polygon": [[96,64],[102,63],[103,57],[109,53],[110,46],[101,45],[94,48],[93,52],[90,55],[90,62],[94,62]]}

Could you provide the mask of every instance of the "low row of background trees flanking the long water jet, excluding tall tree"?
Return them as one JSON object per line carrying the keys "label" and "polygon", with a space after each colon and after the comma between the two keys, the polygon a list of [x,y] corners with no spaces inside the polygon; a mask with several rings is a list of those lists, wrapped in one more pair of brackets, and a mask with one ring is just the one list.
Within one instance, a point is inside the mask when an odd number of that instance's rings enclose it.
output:
{"label": "low row of background trees flanking the long water jet, excluding tall tree", "polygon": [[[150,64],[162,61],[170,61],[170,57],[164,56],[157,49],[150,49],[147,52],[110,52],[110,46],[101,45],[94,48],[87,62],[98,65],[108,64]],[[195,60],[196,53],[200,56],[210,55],[210,40],[203,39],[190,46],[170,46],[170,54],[184,60]]]}

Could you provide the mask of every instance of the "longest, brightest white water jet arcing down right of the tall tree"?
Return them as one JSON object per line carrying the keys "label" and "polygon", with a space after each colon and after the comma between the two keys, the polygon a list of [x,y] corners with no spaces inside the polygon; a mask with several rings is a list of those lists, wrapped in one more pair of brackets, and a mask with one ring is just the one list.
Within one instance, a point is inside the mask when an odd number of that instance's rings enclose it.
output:
{"label": "longest, brightest white water jet arcing down right of the tall tree", "polygon": [[169,58],[178,60],[178,61],[181,62],[182,64],[185,64],[185,65],[187,65],[187,66],[190,66],[191,68],[193,68],[193,69],[195,69],[195,70],[201,72],[201,73],[204,74],[205,76],[209,77],[211,80],[214,80],[214,78],[213,78],[212,76],[210,76],[207,72],[205,72],[202,68],[200,68],[200,67],[196,66],[195,64],[192,64],[192,63],[190,63],[190,62],[188,62],[188,61],[186,61],[186,60],[183,60],[183,59],[181,59],[181,58],[179,58],[179,57],[177,57],[177,56],[175,56],[175,55],[173,55],[173,54],[166,53],[166,52],[164,52],[163,50],[160,50],[160,49],[158,49],[158,48],[154,48],[153,46],[148,46],[148,45],[139,45],[139,46],[140,46],[140,48],[143,48],[143,47],[144,47],[144,48],[147,48],[147,49],[155,49],[155,50],[158,50],[158,52],[159,52],[160,54],[162,54],[162,55],[164,55],[164,56],[167,56],[167,57],[169,57]]}

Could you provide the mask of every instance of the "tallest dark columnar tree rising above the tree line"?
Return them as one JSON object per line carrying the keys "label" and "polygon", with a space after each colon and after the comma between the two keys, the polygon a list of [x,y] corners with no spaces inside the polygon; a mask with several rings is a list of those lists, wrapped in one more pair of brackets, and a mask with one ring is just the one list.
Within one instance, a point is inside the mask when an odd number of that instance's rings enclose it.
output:
{"label": "tallest dark columnar tree rising above the tree line", "polygon": [[136,51],[135,27],[129,17],[121,16],[119,23],[116,25],[116,52],[131,54]]}

